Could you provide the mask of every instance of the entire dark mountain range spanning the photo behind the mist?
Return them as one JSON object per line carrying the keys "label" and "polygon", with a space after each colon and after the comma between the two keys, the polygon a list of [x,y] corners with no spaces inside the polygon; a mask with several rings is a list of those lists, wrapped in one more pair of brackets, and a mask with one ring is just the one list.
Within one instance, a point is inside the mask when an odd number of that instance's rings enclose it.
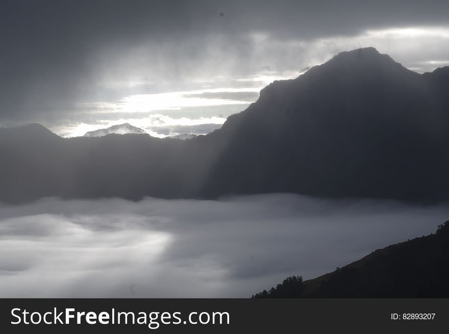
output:
{"label": "entire dark mountain range spanning the photo behind the mist", "polygon": [[448,198],[448,83],[448,67],[418,74],[363,48],[273,82],[221,129],[187,141],[0,129],[0,201],[269,192]]}

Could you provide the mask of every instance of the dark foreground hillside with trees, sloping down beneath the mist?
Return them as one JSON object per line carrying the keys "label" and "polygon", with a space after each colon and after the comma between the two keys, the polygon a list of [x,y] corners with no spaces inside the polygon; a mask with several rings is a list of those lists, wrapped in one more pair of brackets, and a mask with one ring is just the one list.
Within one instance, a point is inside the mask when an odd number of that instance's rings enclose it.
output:
{"label": "dark foreground hillside with trees, sloping down beneath the mist", "polygon": [[286,278],[255,298],[447,298],[449,221],[436,234],[373,251],[334,272]]}

